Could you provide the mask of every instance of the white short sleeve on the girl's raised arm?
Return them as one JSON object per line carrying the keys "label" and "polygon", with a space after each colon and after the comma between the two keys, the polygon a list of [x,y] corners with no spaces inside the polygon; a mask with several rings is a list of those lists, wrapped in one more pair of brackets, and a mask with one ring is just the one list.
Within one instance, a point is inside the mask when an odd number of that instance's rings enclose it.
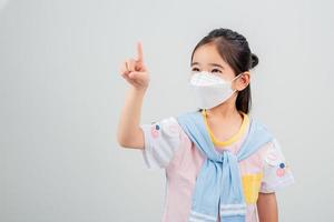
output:
{"label": "white short sleeve on the girl's raised arm", "polygon": [[140,125],[145,145],[143,157],[148,169],[167,168],[180,145],[181,129],[173,117]]}

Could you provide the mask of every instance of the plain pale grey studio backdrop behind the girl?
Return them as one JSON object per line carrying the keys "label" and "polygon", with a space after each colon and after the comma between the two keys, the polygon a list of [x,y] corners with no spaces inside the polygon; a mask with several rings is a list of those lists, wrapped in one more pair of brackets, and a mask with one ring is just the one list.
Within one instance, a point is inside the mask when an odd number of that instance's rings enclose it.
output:
{"label": "plain pale grey studio backdrop behind the girl", "polygon": [[0,221],[160,221],[164,170],[121,149],[120,63],[143,42],[151,82],[141,123],[194,109],[190,53],[215,28],[259,58],[252,115],[296,183],[283,222],[334,221],[333,1],[0,1]]}

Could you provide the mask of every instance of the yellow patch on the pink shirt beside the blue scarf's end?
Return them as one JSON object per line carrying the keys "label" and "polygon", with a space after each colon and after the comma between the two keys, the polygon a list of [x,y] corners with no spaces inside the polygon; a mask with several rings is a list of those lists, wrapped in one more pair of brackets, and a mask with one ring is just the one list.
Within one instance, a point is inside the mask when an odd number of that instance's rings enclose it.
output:
{"label": "yellow patch on the pink shirt beside the blue scarf's end", "polygon": [[243,191],[247,204],[256,203],[263,173],[246,174],[242,176]]}

